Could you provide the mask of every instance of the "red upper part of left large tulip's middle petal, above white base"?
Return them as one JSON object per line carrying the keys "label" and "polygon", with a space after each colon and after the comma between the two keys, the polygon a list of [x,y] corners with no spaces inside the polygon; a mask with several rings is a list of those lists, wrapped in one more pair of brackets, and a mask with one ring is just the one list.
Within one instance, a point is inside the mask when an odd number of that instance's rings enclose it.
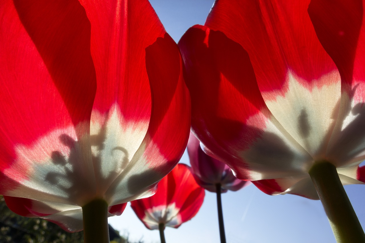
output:
{"label": "red upper part of left large tulip's middle petal, above white base", "polygon": [[146,0],[80,2],[91,22],[97,76],[93,109],[104,115],[116,103],[128,122],[148,122],[151,94],[145,49],[165,35],[164,27]]}

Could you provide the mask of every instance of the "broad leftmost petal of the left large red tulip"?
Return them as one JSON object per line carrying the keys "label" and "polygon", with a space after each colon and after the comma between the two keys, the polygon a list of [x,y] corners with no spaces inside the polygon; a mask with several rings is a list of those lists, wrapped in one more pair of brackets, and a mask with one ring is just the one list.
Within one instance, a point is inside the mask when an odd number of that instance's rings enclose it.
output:
{"label": "broad leftmost petal of the left large red tulip", "polygon": [[63,190],[73,182],[55,185],[47,176],[73,153],[68,169],[95,185],[88,134],[96,80],[85,10],[67,0],[5,1],[0,11],[8,33],[0,37],[0,191],[77,201]]}

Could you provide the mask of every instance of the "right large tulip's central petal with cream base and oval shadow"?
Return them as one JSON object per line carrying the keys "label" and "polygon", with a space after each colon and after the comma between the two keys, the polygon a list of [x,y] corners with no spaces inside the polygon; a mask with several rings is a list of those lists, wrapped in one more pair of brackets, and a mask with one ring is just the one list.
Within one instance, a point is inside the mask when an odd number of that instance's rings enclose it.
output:
{"label": "right large tulip's central petal with cream base and oval shadow", "polygon": [[272,115],[316,157],[325,153],[327,144],[322,141],[329,140],[335,126],[328,114],[338,114],[341,80],[316,36],[308,4],[309,0],[221,0],[206,25],[242,45]]}

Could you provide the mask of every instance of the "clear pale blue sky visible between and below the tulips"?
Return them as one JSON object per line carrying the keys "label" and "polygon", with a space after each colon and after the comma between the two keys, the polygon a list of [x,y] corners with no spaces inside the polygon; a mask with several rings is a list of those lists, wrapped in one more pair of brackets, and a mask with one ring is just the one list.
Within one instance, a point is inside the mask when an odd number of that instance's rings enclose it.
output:
{"label": "clear pale blue sky visible between and below the tulips", "polygon": [[[151,0],[166,31],[178,42],[194,24],[204,24],[214,0]],[[181,158],[189,164],[187,154]],[[365,185],[345,186],[347,195],[365,228]],[[224,226],[228,243],[332,243],[335,242],[320,201],[294,195],[269,196],[250,185],[222,194]],[[109,223],[130,240],[160,242],[157,230],[139,221],[128,203],[121,216]],[[219,243],[216,194],[205,191],[197,215],[178,229],[166,228],[167,243]]]}

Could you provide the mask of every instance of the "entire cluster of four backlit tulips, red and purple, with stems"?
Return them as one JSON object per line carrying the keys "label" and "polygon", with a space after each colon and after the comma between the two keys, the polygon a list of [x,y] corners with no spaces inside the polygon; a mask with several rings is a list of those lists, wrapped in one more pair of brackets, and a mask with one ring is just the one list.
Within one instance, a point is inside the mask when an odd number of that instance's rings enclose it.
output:
{"label": "entire cluster of four backlit tulips, red and purple, with stems", "polygon": [[164,242],[252,181],[365,242],[342,186],[365,181],[364,4],[216,0],[176,44],[147,0],[2,0],[0,194],[86,243],[132,201]]}

